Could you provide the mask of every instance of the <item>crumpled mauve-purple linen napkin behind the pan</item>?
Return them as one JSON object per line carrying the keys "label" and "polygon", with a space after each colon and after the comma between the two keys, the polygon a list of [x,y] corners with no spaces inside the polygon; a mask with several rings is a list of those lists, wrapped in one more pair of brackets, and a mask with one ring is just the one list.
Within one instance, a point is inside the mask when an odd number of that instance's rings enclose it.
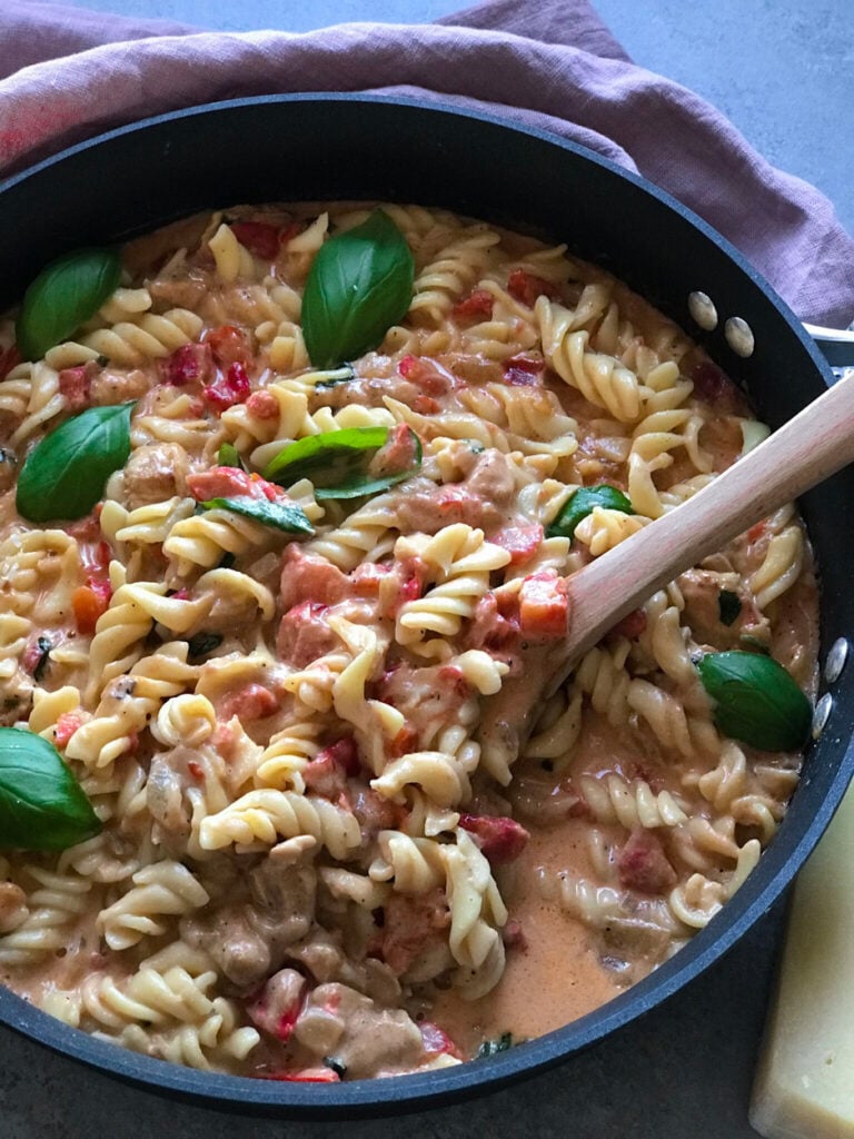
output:
{"label": "crumpled mauve-purple linen napkin behind the pan", "polygon": [[0,28],[0,175],[112,126],[219,99],[451,97],[637,170],[737,245],[802,319],[854,319],[854,241],[828,199],[766,163],[697,95],[632,64],[586,0],[494,0],[440,24],[303,35],[197,33],[6,0]]}

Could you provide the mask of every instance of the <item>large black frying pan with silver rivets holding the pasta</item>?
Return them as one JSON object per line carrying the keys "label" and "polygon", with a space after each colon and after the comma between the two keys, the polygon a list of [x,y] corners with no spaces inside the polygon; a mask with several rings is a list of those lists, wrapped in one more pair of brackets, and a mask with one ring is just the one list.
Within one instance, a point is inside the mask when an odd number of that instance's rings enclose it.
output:
{"label": "large black frying pan with silver rivets holding the pasta", "polygon": [[[832,382],[795,316],[728,243],[673,198],[581,147],[498,118],[412,100],[273,96],[164,115],[66,150],[0,183],[0,310],[58,254],[149,231],[205,207],[299,199],[445,206],[525,230],[597,262],[681,325],[748,392],[772,427]],[[745,204],[749,208],[749,203]],[[721,317],[704,333],[688,297]],[[755,351],[724,335],[746,320]],[[821,567],[821,659],[854,626],[854,476],[802,500]],[[566,1062],[665,1000],[738,941],[813,849],[854,770],[854,669],[830,686],[831,710],[807,753],[779,834],[746,885],[692,942],[616,1000],[491,1060],[392,1080],[279,1083],[212,1075],[138,1056],[0,990],[0,1021],[121,1079],[208,1106],[270,1115],[379,1115],[447,1104]]]}

